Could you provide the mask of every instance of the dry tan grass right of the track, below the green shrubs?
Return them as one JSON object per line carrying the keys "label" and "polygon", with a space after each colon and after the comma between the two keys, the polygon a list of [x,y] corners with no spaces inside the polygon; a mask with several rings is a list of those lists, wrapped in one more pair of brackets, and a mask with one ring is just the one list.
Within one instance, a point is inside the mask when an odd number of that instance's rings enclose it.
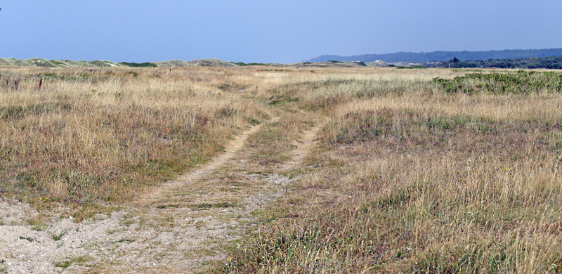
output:
{"label": "dry tan grass right of the track, below the green shrubs", "polygon": [[449,94],[429,81],[457,76],[447,72],[274,89],[277,104],[332,122],[266,229],[224,270],[561,271],[561,94]]}

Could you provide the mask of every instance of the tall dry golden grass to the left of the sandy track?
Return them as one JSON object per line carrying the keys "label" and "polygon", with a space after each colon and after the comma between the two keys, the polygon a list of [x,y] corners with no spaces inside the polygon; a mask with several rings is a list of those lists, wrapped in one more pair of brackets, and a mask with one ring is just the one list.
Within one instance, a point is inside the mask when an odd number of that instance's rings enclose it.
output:
{"label": "tall dry golden grass to the left of the sandy track", "polygon": [[217,89],[216,81],[229,81],[220,70],[69,68],[0,77],[0,188],[30,201],[130,200],[266,118],[241,93]]}

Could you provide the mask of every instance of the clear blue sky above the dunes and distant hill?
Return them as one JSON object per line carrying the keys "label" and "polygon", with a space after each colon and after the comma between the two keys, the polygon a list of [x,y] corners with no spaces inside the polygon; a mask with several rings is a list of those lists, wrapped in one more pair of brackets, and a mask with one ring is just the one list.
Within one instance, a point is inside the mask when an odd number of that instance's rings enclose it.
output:
{"label": "clear blue sky above the dunes and distant hill", "polygon": [[562,48],[561,0],[0,1],[0,57],[294,63]]}

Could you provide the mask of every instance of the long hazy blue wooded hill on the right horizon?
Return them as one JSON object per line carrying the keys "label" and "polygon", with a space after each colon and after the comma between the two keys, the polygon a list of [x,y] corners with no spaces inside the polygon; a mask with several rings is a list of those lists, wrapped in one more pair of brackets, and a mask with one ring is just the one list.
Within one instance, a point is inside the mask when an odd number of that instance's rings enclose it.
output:
{"label": "long hazy blue wooded hill on the right horizon", "polygon": [[308,62],[363,61],[374,62],[382,60],[386,63],[426,63],[430,61],[445,61],[452,58],[460,60],[489,60],[514,59],[530,57],[562,56],[562,48],[549,49],[507,49],[504,51],[433,51],[433,52],[398,52],[386,54],[364,54],[360,56],[331,56],[324,55],[312,58]]}

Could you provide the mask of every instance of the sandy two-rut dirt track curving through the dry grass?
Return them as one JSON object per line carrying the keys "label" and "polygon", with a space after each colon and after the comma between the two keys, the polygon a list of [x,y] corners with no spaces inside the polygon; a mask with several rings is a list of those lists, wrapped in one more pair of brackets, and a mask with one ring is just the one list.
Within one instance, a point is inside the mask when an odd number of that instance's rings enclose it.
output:
{"label": "sandy two-rut dirt track curving through the dry grass", "polygon": [[[277,121],[272,119],[270,123]],[[289,178],[251,169],[259,151],[246,145],[268,124],[252,126],[204,166],[167,182],[112,214],[74,223],[56,214],[37,227],[37,211],[0,201],[0,270],[8,273],[191,273],[224,260],[229,242],[256,228],[252,212],[280,197]],[[292,159],[298,167],[321,124],[304,131]],[[1,272],[1,271],[0,271]]]}

